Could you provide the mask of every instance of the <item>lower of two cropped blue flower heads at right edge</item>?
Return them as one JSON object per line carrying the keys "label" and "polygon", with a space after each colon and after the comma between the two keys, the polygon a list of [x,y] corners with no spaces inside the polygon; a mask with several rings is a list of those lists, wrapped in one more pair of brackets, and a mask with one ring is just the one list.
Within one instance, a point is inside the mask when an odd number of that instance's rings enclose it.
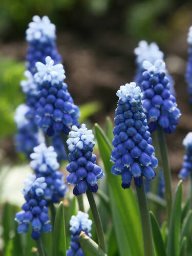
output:
{"label": "lower of two cropped blue flower heads at right edge", "polygon": [[192,132],[187,134],[183,140],[183,145],[185,147],[185,155],[183,157],[182,169],[179,173],[180,179],[186,179],[189,174],[192,174]]}

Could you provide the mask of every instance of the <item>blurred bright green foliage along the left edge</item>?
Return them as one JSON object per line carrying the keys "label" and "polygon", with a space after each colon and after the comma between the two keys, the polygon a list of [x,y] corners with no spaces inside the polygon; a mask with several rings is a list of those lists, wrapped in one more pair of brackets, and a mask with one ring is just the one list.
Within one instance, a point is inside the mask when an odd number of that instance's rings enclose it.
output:
{"label": "blurred bright green foliage along the left edge", "polygon": [[15,131],[14,111],[24,102],[24,95],[19,86],[24,69],[24,63],[0,56],[0,138]]}

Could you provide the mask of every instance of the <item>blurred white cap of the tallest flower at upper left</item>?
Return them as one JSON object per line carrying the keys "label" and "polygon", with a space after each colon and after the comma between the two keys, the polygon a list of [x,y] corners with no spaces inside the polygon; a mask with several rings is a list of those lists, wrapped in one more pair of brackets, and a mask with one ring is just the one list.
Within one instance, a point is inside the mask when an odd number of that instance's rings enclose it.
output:
{"label": "blurred white cap of the tallest flower at upper left", "polygon": [[55,40],[55,25],[50,22],[48,16],[40,18],[35,15],[29,23],[29,28],[26,30],[26,40],[28,42],[40,41],[45,43],[50,40]]}

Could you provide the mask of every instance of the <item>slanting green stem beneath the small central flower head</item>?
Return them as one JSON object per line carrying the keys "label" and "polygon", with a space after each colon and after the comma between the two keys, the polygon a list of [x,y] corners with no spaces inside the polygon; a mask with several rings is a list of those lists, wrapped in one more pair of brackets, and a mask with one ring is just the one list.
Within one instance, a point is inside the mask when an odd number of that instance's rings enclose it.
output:
{"label": "slanting green stem beneath the small central flower head", "polygon": [[90,208],[92,211],[93,219],[95,222],[99,246],[106,253],[106,244],[105,244],[105,239],[104,239],[103,227],[102,227],[102,223],[101,223],[101,218],[99,216],[99,211],[98,211],[97,205],[95,203],[95,199],[93,197],[92,192],[89,189],[86,191],[86,194],[88,197],[88,201],[89,201]]}

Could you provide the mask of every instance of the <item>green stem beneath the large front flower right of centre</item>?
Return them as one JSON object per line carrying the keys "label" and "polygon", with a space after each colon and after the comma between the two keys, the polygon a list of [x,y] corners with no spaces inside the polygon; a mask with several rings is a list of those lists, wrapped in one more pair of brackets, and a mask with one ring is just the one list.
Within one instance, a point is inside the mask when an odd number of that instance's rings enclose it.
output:
{"label": "green stem beneath the large front flower right of centre", "polygon": [[152,240],[152,226],[150,220],[150,213],[148,210],[147,198],[145,193],[144,184],[141,187],[137,187],[137,198],[139,202],[139,210],[141,217],[142,233],[143,233],[143,244],[144,244],[144,255],[153,256],[153,240]]}

